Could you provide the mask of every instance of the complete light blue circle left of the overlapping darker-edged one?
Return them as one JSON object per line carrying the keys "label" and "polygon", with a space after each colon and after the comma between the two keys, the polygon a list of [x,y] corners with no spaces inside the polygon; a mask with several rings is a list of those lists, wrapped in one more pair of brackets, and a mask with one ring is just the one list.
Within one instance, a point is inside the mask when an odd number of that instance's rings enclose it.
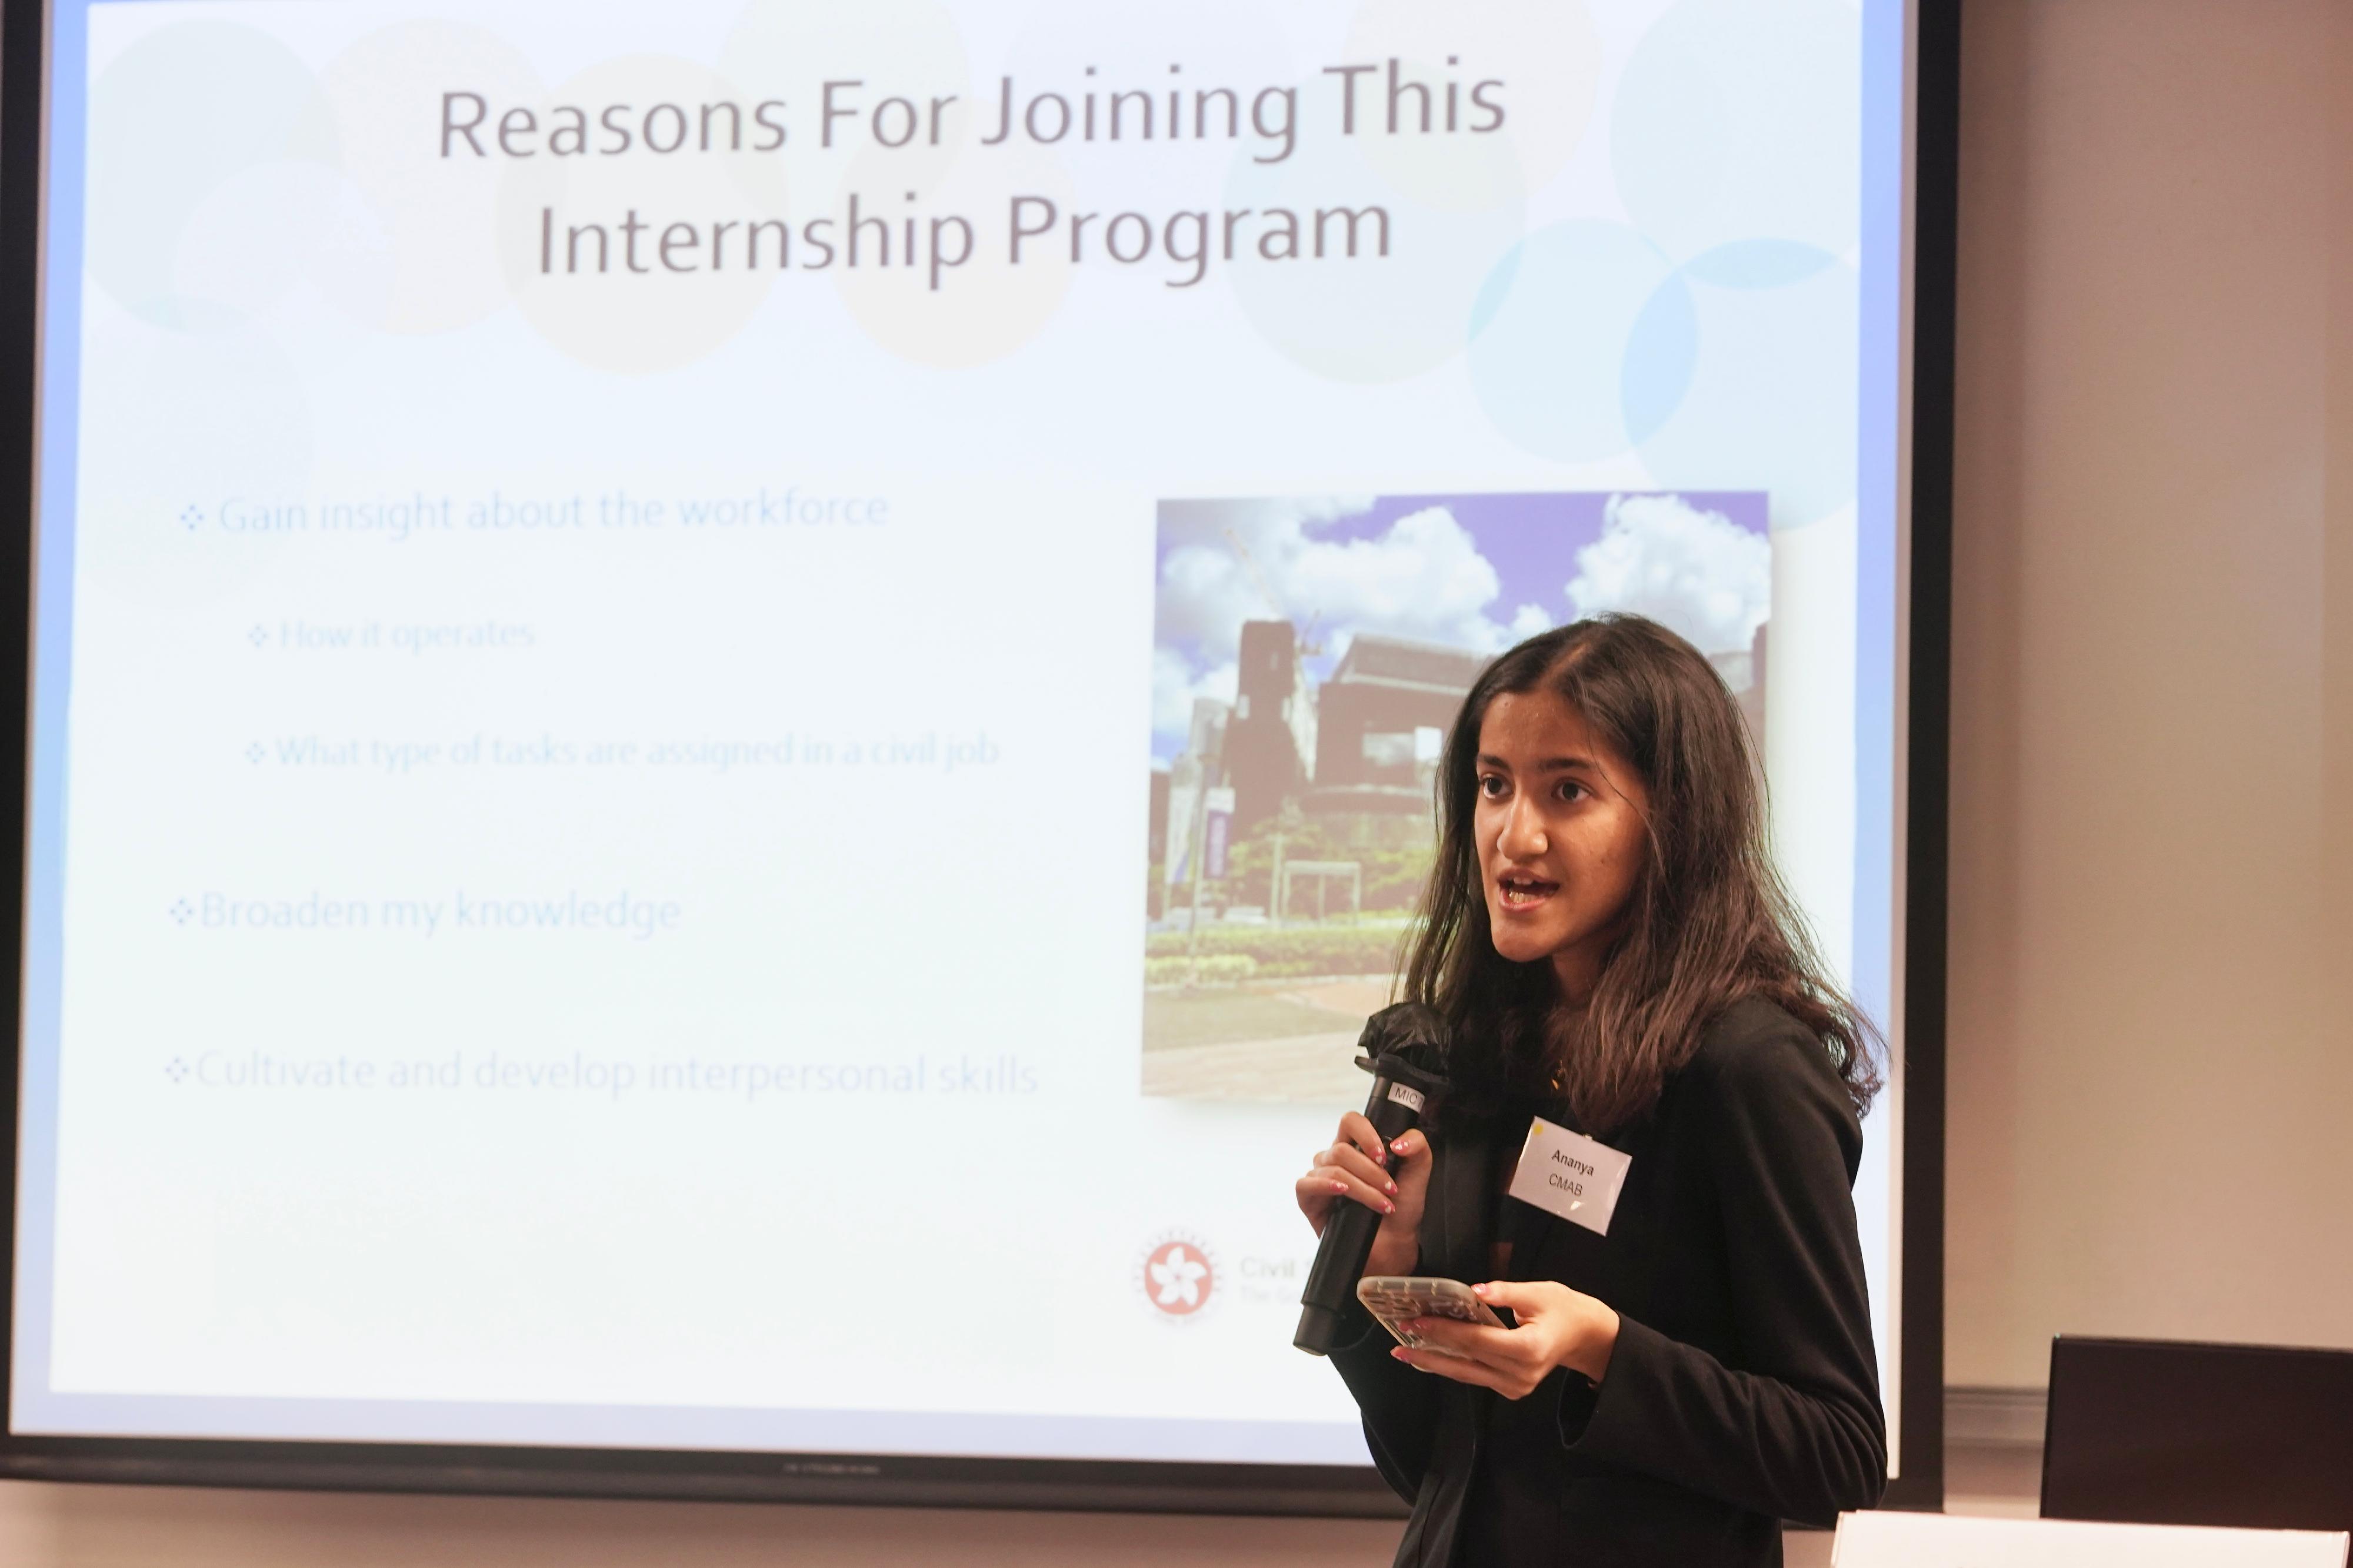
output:
{"label": "complete light blue circle left of the overlapping darker-edged one", "polygon": [[1645,369],[1638,400],[1626,390],[1635,339],[1673,341],[1680,287],[1659,247],[1624,223],[1569,219],[1527,235],[1487,273],[1471,308],[1471,388],[1487,418],[1562,463],[1633,447],[1640,428],[1631,409],[1657,428],[1682,397],[1671,360]]}

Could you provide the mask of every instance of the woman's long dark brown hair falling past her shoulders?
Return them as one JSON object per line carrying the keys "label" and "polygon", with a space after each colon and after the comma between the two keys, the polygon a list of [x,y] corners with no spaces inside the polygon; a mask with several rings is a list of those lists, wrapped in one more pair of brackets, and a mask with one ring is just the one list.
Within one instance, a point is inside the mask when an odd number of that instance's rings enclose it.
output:
{"label": "woman's long dark brown hair falling past her shoulders", "polygon": [[[1478,738],[1504,693],[1551,691],[1649,790],[1649,858],[1581,1013],[1546,959],[1494,950],[1473,816]],[[1405,964],[1405,994],[1447,1023],[1454,1074],[1560,1095],[1591,1131],[1649,1110],[1701,1027],[1765,997],[1821,1037],[1854,1107],[1880,1088],[1880,1034],[1831,980],[1765,846],[1755,741],[1715,665],[1642,616],[1593,616],[1529,637],[1471,686],[1438,769],[1438,863]]]}

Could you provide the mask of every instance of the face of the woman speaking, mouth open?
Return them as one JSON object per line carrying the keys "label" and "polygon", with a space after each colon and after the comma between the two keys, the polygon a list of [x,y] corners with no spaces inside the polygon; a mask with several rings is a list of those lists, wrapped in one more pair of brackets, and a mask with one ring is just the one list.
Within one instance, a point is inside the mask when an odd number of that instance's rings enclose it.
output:
{"label": "face of the woman speaking, mouth open", "polygon": [[1494,950],[1551,959],[1593,994],[1649,853],[1649,790],[1551,691],[1504,693],[1478,726],[1480,882]]}

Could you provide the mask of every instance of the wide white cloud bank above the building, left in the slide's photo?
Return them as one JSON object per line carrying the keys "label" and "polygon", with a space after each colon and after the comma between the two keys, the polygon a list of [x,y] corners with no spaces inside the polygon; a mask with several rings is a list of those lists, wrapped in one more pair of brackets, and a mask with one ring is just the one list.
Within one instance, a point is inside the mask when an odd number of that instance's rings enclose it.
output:
{"label": "wide white cloud bank above the building, left in the slide's photo", "polygon": [[[1504,646],[1504,628],[1485,614],[1501,583],[1447,508],[1398,517],[1374,538],[1311,531],[1367,505],[1221,503],[1179,515],[1172,531],[1186,543],[1160,562],[1160,637],[1193,639],[1207,658],[1224,661],[1238,654],[1242,621],[1289,618],[1301,628],[1313,623],[1334,649],[1355,632],[1482,654]],[[1247,562],[1235,543],[1249,552]]]}

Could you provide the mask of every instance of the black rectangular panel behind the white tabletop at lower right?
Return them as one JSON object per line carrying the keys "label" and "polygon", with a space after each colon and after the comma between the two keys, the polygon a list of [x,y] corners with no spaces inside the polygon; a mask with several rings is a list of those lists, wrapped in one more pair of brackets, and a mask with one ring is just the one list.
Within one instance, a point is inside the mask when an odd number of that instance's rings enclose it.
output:
{"label": "black rectangular panel behind the white tabletop at lower right", "polygon": [[2059,1335],[2042,1516],[2353,1530],[2353,1352]]}

